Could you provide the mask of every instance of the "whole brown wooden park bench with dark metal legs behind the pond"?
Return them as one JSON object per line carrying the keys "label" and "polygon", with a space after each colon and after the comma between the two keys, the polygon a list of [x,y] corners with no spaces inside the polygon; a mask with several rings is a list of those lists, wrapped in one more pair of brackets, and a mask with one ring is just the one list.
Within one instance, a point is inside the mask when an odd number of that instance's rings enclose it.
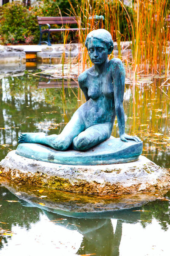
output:
{"label": "whole brown wooden park bench with dark metal legs behind the pond", "polygon": [[[41,45],[41,40],[42,40],[42,35],[44,33],[48,33],[48,39],[47,41],[42,41],[48,45],[51,45],[50,42],[50,34],[51,32],[56,33],[56,32],[61,32],[61,31],[71,31],[71,32],[76,32],[77,30],[79,30],[79,28],[70,28],[69,26],[71,24],[77,24],[78,27],[80,27],[81,24],[81,19],[80,17],[75,17],[75,16],[71,16],[71,17],[40,17],[37,16],[37,20],[38,20],[38,24],[40,27],[40,41],[38,45]],[[57,25],[62,25],[61,28],[59,29],[53,29],[51,28],[51,24],[57,24]],[[42,26],[48,26],[48,29],[42,29]],[[65,27],[63,27],[63,25],[65,25]],[[85,28],[81,28],[82,30],[85,30]]]}

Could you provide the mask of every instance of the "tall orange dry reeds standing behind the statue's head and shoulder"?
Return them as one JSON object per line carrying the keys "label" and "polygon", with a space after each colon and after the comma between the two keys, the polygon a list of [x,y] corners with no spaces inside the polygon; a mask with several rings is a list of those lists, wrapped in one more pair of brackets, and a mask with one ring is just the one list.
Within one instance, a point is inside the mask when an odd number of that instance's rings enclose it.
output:
{"label": "tall orange dry reeds standing behind the statue's head and shoulder", "polygon": [[[76,8],[71,4],[71,0],[68,1],[71,5],[71,15],[82,19],[82,23],[79,23],[81,44],[84,44],[89,31],[99,28],[99,23],[93,18],[94,15],[105,17],[100,26],[111,32],[113,40],[117,43],[118,57],[132,67],[133,83],[139,72],[143,75],[169,74],[170,29],[166,20],[166,0],[136,0],[130,8],[124,6],[121,0],[82,0],[81,5],[77,1]],[[92,19],[89,20],[89,17]],[[82,31],[82,26],[87,30]],[[131,41],[132,60],[122,56],[122,41]],[[86,64],[91,65],[91,63],[86,49],[82,48],[81,51],[82,71]]]}

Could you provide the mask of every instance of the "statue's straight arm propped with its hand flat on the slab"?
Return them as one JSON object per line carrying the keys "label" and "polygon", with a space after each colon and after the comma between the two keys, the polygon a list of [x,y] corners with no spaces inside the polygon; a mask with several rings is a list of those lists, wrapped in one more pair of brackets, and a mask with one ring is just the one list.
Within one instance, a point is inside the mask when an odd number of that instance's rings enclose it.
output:
{"label": "statue's straight arm propped with its hand flat on the slab", "polygon": [[125,69],[122,61],[117,59],[113,65],[113,90],[114,90],[114,103],[117,121],[119,125],[119,136],[122,141],[135,140],[136,142],[141,141],[136,136],[130,136],[125,134],[125,113],[123,108],[123,96],[125,92]]}

